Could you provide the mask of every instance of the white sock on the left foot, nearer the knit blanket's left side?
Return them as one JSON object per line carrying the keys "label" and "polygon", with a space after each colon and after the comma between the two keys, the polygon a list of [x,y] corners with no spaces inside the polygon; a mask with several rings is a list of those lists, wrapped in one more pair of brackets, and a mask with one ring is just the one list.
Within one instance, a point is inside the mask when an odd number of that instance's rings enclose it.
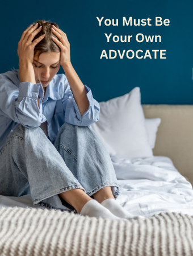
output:
{"label": "white sock on the left foot, nearer the knit blanket's left side", "polygon": [[95,199],[87,201],[87,203],[83,206],[80,214],[89,217],[102,217],[104,219],[120,219],[119,217],[112,214],[110,210],[99,204]]}

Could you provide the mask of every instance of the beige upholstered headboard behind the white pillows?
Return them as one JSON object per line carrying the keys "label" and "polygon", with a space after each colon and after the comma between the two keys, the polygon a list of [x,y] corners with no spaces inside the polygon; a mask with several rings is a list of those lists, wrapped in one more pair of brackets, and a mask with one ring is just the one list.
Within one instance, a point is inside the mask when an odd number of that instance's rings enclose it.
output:
{"label": "beige upholstered headboard behind the white pillows", "polygon": [[142,105],[146,118],[161,118],[154,155],[168,156],[193,185],[193,105]]}

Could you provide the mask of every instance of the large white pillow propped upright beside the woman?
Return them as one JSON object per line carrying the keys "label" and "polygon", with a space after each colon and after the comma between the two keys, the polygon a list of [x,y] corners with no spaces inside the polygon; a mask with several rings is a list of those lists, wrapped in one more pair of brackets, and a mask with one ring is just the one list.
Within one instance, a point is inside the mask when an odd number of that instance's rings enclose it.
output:
{"label": "large white pillow propped upright beside the woman", "polygon": [[104,139],[106,148],[110,146],[110,155],[118,154],[125,158],[153,156],[148,142],[139,87],[99,104],[99,120],[91,127]]}

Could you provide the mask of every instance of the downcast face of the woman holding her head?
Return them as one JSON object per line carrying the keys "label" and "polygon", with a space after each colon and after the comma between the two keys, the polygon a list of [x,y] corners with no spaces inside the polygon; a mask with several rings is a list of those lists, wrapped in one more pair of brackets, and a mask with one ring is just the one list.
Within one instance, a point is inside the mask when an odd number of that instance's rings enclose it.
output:
{"label": "downcast face of the woman holding her head", "polygon": [[[39,56],[39,66],[37,67],[37,56],[33,58],[33,70],[35,73],[36,84],[39,77],[43,87],[47,87],[60,69],[60,52],[41,53]],[[39,77],[37,75],[39,73]],[[47,81],[47,82],[44,82]]]}

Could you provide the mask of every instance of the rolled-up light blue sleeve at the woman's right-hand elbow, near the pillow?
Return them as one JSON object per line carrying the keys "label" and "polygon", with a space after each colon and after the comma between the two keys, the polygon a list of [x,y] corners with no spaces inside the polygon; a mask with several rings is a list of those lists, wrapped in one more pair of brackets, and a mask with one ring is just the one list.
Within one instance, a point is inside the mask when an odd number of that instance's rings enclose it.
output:
{"label": "rolled-up light blue sleeve at the woman's right-hand elbow, near the pillow", "polygon": [[84,85],[87,90],[87,99],[89,100],[89,108],[83,115],[79,112],[78,105],[74,100],[72,90],[68,84],[65,89],[64,98],[62,99],[62,106],[65,112],[65,122],[78,126],[89,126],[98,121],[100,105],[99,102],[93,98],[91,89]]}

